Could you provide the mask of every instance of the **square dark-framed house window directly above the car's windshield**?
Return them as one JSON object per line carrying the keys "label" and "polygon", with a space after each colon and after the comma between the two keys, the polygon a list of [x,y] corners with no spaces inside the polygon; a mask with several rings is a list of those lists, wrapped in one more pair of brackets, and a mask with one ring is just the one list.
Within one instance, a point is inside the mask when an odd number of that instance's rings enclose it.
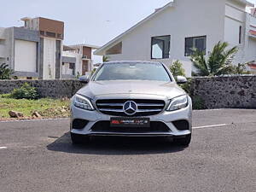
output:
{"label": "square dark-framed house window directly above the car's windshield", "polygon": [[170,58],[171,36],[151,38],[151,59]]}

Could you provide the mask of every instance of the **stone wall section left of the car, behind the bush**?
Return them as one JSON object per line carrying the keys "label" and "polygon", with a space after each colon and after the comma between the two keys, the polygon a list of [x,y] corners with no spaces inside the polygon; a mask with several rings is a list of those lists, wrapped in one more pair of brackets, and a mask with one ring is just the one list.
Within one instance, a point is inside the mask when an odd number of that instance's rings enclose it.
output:
{"label": "stone wall section left of the car, behind the bush", "polygon": [[38,89],[42,97],[63,98],[72,97],[84,86],[77,79],[55,80],[0,80],[0,94],[9,93],[22,84],[28,83]]}

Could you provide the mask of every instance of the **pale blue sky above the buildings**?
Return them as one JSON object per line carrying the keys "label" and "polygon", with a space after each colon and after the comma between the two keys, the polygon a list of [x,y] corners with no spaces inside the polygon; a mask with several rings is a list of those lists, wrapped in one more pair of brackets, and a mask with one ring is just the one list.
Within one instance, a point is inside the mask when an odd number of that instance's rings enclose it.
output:
{"label": "pale blue sky above the buildings", "polygon": [[170,1],[8,0],[1,4],[0,27],[23,26],[20,18],[41,16],[65,22],[64,44],[102,46]]}

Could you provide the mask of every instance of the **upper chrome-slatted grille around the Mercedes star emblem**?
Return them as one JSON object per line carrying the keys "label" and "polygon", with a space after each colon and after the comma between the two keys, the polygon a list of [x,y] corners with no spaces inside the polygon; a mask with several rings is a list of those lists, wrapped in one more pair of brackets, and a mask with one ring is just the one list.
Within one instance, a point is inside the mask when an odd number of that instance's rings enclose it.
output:
{"label": "upper chrome-slatted grille around the Mercedes star emblem", "polygon": [[[137,113],[127,115],[124,110],[125,102],[132,101],[137,103]],[[144,100],[144,99],[113,99],[113,100],[98,100],[96,107],[102,113],[113,116],[149,116],[161,113],[165,108],[166,102],[161,100]]]}

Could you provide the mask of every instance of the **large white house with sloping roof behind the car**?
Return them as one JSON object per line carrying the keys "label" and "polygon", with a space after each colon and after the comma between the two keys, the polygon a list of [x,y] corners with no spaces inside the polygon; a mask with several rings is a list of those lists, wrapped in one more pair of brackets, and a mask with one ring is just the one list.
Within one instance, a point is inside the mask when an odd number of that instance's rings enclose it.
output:
{"label": "large white house with sloping roof behind the car", "polygon": [[[191,75],[191,48],[208,53],[218,41],[238,46],[235,63],[256,61],[256,18],[246,0],[174,0],[97,49],[110,61],[180,60]],[[252,63],[251,68],[256,68]]]}

